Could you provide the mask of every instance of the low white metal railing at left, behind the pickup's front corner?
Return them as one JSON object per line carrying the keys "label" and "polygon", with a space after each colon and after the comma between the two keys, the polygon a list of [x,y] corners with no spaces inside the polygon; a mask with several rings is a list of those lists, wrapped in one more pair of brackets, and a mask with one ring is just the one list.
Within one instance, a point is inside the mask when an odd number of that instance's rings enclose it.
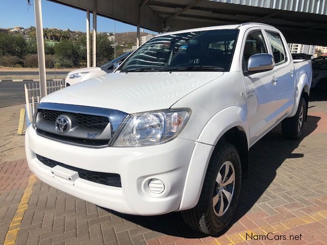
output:
{"label": "low white metal railing at left, behind the pickup's front corner", "polygon": [[[40,83],[33,82],[25,84],[25,100],[26,100],[26,112],[28,122],[32,122],[33,114],[37,105],[40,103],[41,94],[40,94]],[[65,80],[63,79],[54,79],[46,81],[46,94],[53,93],[57,90],[66,87]]]}

